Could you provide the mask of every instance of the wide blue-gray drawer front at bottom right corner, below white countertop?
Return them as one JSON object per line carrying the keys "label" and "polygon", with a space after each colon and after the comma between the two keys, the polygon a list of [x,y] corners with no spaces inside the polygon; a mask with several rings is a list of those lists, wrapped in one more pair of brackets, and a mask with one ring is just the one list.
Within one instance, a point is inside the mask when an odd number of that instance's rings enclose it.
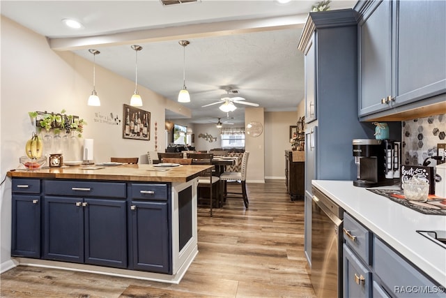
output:
{"label": "wide blue-gray drawer front at bottom right corner, below white countertop", "polygon": [[395,297],[445,297],[438,285],[376,237],[374,268],[385,288]]}

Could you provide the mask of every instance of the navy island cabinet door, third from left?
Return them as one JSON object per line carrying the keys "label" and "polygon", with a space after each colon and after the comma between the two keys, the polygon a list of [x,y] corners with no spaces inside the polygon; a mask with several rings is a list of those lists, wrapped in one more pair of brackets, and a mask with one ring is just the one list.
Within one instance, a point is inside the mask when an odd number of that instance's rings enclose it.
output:
{"label": "navy island cabinet door, third from left", "polygon": [[85,263],[127,268],[127,202],[84,200]]}

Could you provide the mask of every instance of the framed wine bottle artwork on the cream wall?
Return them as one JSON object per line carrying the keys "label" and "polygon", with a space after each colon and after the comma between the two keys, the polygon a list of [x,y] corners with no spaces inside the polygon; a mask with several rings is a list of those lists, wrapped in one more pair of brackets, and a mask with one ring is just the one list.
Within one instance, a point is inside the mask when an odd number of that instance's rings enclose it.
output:
{"label": "framed wine bottle artwork on the cream wall", "polygon": [[123,139],[151,140],[151,113],[124,104]]}

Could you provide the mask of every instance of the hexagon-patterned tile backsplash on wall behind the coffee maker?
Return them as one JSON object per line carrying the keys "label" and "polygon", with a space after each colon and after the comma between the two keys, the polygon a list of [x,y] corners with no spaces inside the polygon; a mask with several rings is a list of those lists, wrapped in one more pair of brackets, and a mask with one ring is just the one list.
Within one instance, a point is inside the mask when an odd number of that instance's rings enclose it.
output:
{"label": "hexagon-patterned tile backsplash on wall behind the coffee maker", "polygon": [[422,165],[429,156],[437,155],[437,144],[446,143],[446,114],[402,121],[401,163]]}

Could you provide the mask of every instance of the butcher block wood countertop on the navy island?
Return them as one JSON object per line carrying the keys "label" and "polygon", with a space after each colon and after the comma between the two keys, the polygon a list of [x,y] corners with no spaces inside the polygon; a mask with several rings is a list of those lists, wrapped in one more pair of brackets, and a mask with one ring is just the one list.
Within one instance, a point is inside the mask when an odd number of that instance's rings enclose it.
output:
{"label": "butcher block wood countertop on the navy island", "polygon": [[156,165],[77,165],[43,167],[40,170],[10,170],[11,178],[41,179],[93,179],[114,181],[187,182],[213,165],[180,165],[157,167]]}

